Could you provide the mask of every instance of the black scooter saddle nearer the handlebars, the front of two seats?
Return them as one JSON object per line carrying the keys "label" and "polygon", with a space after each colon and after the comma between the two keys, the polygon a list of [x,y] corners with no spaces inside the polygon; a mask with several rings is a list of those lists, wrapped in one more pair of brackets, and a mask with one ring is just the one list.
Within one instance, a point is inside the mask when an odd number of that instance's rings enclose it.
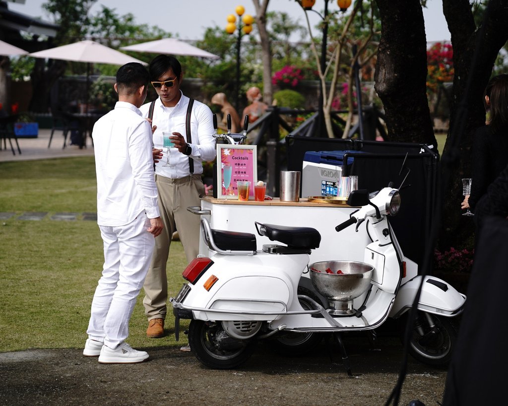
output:
{"label": "black scooter saddle nearer the handlebars, the front of two seats", "polygon": [[321,234],[311,227],[288,227],[256,222],[260,235],[267,236],[271,241],[278,241],[291,248],[315,249],[321,243]]}

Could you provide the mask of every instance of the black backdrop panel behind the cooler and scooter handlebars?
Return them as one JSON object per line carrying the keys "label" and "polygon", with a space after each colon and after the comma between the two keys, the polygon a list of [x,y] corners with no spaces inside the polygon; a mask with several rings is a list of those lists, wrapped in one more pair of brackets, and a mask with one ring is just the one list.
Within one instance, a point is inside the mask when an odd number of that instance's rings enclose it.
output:
{"label": "black backdrop panel behind the cooler and scooter handlebars", "polygon": [[432,243],[430,225],[435,207],[438,155],[422,144],[295,136],[286,137],[286,142],[289,171],[302,171],[307,151],[358,151],[344,155],[344,160],[354,157],[345,175],[358,176],[358,188],[369,192],[380,190],[389,182],[398,188],[407,172],[399,175],[407,155],[405,166],[410,172],[400,191],[401,209],[390,218],[390,223],[404,255],[420,266],[423,264],[426,244]]}

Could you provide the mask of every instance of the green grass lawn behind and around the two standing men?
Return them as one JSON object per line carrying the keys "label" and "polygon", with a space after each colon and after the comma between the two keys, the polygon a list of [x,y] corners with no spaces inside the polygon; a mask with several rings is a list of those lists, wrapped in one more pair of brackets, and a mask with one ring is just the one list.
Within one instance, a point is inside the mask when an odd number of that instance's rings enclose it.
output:
{"label": "green grass lawn behind and around the two standing men", "polygon": [[[93,157],[0,163],[0,191],[0,212],[97,211]],[[81,348],[103,264],[97,223],[14,216],[0,221],[0,241],[0,352]],[[185,265],[182,246],[174,242],[168,261],[170,296],[183,283]],[[166,319],[171,335],[146,338],[143,295],[141,291],[128,341],[137,347],[176,345],[171,305]]]}

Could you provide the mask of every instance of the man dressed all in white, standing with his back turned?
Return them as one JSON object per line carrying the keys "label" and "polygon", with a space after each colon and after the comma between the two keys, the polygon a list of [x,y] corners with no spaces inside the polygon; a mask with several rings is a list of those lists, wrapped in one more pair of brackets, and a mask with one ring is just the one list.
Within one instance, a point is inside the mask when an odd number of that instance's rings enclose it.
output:
{"label": "man dressed all in white, standing with his back turned", "polygon": [[163,229],[153,179],[151,128],[139,111],[148,80],[140,63],[121,66],[114,85],[115,109],[99,119],[92,132],[104,267],[93,295],[83,355],[99,356],[101,363],[148,358],[145,351],[125,343],[154,237]]}

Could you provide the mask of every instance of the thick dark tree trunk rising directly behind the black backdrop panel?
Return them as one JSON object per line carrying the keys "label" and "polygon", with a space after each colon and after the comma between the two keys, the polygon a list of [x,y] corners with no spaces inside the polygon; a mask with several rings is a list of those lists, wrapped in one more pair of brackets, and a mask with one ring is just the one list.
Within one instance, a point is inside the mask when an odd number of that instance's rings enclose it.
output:
{"label": "thick dark tree trunk rising directly behind the black backdrop panel", "polygon": [[427,43],[420,0],[376,0],[381,17],[375,90],[390,141],[437,146],[427,100]]}

